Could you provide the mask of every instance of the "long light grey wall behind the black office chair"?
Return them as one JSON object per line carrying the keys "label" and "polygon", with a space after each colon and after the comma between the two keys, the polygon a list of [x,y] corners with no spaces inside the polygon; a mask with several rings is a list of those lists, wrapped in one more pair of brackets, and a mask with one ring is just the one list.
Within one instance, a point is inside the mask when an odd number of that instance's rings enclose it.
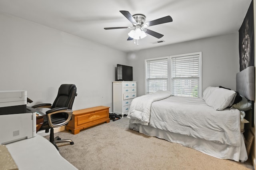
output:
{"label": "long light grey wall behind the black office chair", "polygon": [[0,90],[26,90],[35,105],[52,103],[61,84],[74,83],[73,110],[112,111],[114,70],[127,64],[126,53],[3,13],[0,25]]}

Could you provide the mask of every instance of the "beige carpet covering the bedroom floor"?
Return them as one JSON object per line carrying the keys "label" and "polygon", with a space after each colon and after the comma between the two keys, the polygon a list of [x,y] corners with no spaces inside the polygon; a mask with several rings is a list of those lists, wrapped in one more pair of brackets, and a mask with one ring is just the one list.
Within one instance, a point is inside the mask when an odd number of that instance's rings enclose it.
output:
{"label": "beige carpet covering the bedroom floor", "polygon": [[[55,134],[72,139],[74,145],[58,144],[60,154],[79,170],[245,170],[250,162],[222,160],[187,148],[146,136],[128,128],[124,117],[78,134]],[[46,136],[48,138],[49,136]]]}

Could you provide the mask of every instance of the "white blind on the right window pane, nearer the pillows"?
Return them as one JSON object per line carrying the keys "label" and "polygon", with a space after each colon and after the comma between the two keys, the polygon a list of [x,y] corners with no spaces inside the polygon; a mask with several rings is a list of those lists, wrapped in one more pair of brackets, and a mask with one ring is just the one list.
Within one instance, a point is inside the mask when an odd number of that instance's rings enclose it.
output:
{"label": "white blind on the right window pane, nearer the pillows", "polygon": [[200,56],[172,57],[172,95],[200,97]]}

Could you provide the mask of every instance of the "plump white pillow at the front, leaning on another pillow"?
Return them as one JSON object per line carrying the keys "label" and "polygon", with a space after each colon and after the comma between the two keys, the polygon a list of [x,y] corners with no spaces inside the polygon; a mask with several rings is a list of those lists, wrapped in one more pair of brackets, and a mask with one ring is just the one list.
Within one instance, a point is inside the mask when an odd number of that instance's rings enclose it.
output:
{"label": "plump white pillow at the front, leaning on another pillow", "polygon": [[206,104],[217,111],[226,109],[234,103],[236,92],[224,88],[217,88],[206,99]]}

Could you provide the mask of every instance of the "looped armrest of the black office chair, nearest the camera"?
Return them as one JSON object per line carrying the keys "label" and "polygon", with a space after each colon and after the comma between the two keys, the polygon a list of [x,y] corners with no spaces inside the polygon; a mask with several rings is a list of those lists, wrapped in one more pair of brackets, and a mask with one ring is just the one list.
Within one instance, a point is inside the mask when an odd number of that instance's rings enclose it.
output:
{"label": "looped armrest of the black office chair, nearest the camera", "polygon": [[[56,113],[66,113],[68,114],[68,119],[66,119],[66,121],[59,123],[59,124],[53,124],[52,123],[52,119],[51,119],[51,115],[54,115]],[[50,128],[55,128],[55,127],[61,127],[63,125],[66,125],[70,119],[72,118],[72,113],[73,111],[71,109],[68,109],[68,107],[57,107],[57,108],[53,108],[50,109],[48,111],[46,111],[46,116],[48,119],[48,125]]]}

